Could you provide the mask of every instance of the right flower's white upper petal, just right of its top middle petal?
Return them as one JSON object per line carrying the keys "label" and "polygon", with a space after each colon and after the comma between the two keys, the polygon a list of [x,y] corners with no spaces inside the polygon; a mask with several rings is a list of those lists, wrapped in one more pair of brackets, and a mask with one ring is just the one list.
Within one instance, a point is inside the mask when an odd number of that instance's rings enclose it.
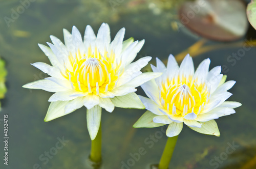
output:
{"label": "right flower's white upper petal, just right of its top middle petal", "polygon": [[206,76],[209,72],[210,59],[205,59],[197,68],[194,79],[197,80],[198,83],[203,83],[206,79]]}

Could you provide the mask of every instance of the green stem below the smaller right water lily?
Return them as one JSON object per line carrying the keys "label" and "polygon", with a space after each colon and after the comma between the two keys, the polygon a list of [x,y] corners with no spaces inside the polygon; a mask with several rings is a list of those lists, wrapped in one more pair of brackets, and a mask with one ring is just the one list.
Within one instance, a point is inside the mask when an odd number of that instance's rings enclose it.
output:
{"label": "green stem below the smaller right water lily", "polygon": [[178,135],[174,137],[168,137],[162,157],[160,159],[158,169],[167,169],[172,159],[174,148],[178,139]]}

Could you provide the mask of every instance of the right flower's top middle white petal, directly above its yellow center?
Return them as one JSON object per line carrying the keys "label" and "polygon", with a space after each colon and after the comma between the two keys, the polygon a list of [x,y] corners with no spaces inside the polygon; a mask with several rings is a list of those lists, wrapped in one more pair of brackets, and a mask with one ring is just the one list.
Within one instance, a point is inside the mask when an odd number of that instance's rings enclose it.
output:
{"label": "right flower's top middle white petal, directly above its yellow center", "polygon": [[195,73],[194,69],[194,63],[192,58],[189,56],[189,54],[186,55],[186,57],[183,59],[180,69],[179,69],[179,75],[182,77],[189,77],[193,76]]}

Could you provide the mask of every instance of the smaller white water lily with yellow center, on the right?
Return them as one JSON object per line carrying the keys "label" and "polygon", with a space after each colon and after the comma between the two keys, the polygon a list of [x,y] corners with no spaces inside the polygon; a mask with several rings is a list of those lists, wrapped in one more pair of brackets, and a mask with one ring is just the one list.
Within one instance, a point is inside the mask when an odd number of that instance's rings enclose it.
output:
{"label": "smaller white water lily with yellow center, on the right", "polygon": [[[154,72],[163,74],[141,85],[150,98],[139,96],[146,111],[134,127],[158,127],[168,124],[166,135],[178,135],[185,123],[189,128],[204,134],[220,135],[214,119],[233,114],[239,102],[225,101],[232,94],[227,92],[236,81],[225,82],[221,67],[209,71],[210,60],[204,60],[196,72],[189,54],[180,67],[169,55],[167,68],[157,59]],[[224,83],[225,82],[225,83]],[[152,121],[153,120],[153,121]]]}

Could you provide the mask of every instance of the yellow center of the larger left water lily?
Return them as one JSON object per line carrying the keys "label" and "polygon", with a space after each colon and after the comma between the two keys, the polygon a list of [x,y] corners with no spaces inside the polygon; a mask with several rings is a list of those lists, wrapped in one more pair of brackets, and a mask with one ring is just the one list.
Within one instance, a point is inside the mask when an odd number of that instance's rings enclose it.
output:
{"label": "yellow center of the larger left water lily", "polygon": [[70,66],[66,63],[65,72],[61,73],[77,92],[99,95],[111,91],[122,73],[118,71],[121,61],[117,63],[115,54],[100,53],[97,48],[94,52],[89,48],[87,55],[78,50],[75,56],[69,55],[69,62]]}

